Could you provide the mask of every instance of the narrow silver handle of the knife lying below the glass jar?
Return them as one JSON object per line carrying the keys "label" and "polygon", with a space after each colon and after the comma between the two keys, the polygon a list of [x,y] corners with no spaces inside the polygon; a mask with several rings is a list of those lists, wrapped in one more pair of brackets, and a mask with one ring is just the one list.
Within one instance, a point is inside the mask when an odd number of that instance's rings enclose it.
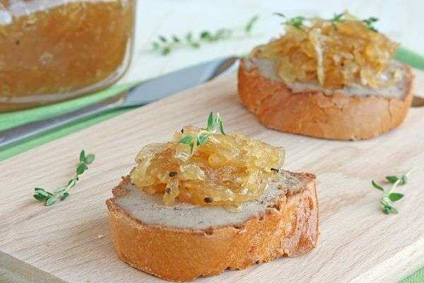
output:
{"label": "narrow silver handle of the knife lying below the glass jar", "polygon": [[51,129],[61,127],[68,124],[69,122],[73,122],[84,117],[90,117],[100,112],[112,110],[122,105],[123,103],[124,96],[122,94],[119,96],[112,96],[111,98],[102,100],[99,103],[95,103],[94,105],[68,112],[64,115],[30,122],[28,124],[14,127],[12,129],[0,131],[0,148],[11,145],[18,141],[22,141],[23,139],[28,139],[29,137],[34,137],[37,134],[41,134],[42,132],[47,132]]}

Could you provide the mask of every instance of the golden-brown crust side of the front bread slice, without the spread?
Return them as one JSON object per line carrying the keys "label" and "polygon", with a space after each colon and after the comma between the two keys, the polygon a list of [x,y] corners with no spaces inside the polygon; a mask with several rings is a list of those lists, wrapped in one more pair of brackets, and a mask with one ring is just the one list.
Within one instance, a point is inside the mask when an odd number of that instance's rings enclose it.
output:
{"label": "golden-brown crust side of the front bread slice, without the spread", "polygon": [[110,229],[117,255],[139,270],[172,281],[241,270],[282,256],[307,253],[317,245],[318,204],[315,176],[302,175],[305,186],[293,195],[280,195],[264,215],[242,226],[206,230],[172,229],[143,224],[119,207],[129,178],[107,200]]}

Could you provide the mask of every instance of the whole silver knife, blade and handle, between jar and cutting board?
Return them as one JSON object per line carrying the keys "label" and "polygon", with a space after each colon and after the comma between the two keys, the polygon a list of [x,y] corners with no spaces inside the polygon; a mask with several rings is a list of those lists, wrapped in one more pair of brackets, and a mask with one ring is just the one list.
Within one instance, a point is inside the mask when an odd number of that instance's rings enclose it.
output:
{"label": "whole silver knife, blade and handle, between jar and cutting board", "polygon": [[119,108],[146,105],[155,100],[178,93],[179,91],[198,86],[218,76],[224,76],[235,71],[238,67],[238,62],[237,57],[225,57],[197,64],[193,67],[187,67],[155,79],[144,81],[130,88],[126,95],[120,93],[118,96],[101,100],[94,105],[89,105],[86,108],[68,112],[64,115],[6,129],[0,132],[0,149],[11,146],[23,139],[35,137],[38,134],[64,126],[70,122],[75,122],[84,117],[90,117]]}

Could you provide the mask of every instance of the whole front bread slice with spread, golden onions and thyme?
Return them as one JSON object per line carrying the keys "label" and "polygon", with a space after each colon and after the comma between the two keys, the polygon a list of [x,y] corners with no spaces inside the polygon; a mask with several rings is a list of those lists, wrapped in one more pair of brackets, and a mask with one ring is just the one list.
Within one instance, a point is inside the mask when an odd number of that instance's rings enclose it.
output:
{"label": "whole front bread slice with spread, golden onions and thyme", "polygon": [[144,146],[106,202],[119,258],[185,281],[307,253],[318,236],[315,176],[285,171],[284,157],[225,134],[212,113],[206,129]]}

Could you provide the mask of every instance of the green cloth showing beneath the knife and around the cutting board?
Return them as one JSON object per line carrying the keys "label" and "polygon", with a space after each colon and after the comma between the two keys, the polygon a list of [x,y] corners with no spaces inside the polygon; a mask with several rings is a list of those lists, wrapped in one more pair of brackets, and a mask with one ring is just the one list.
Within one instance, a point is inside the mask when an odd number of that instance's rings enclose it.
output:
{"label": "green cloth showing beneath the knife and around the cutting board", "polygon": [[[411,50],[406,50],[405,48],[400,47],[396,52],[395,57],[399,61],[409,64],[412,67],[424,70],[424,57],[420,54],[417,54],[416,52],[412,52]],[[121,93],[122,91],[126,91],[135,84],[136,83],[126,83],[122,85],[112,86],[104,91],[93,93],[90,96],[76,98],[63,103],[57,103],[54,105],[43,106],[30,110],[0,114],[0,130],[9,129],[11,127],[16,127],[18,125],[22,125],[28,122],[42,120],[47,117],[54,117],[65,112],[70,112],[72,110],[82,108],[83,106],[96,103],[99,100],[109,98],[110,96],[114,96],[118,93]],[[77,132],[80,129],[84,129],[86,127],[89,127],[90,125],[97,124],[98,122],[102,122],[126,111],[127,110],[115,110],[112,112],[107,112],[103,115],[89,117],[78,122],[71,123],[70,125],[66,125],[65,127],[61,127],[60,129],[57,129],[55,131],[42,134],[33,139],[28,139],[26,141],[20,142],[19,144],[16,144],[14,146],[4,149],[3,151],[0,151],[0,161],[11,156],[20,154],[23,151],[27,151],[28,149],[32,149],[35,146],[39,146],[40,144],[45,144],[54,139],[58,139],[59,137],[64,137],[67,134]],[[418,270],[418,272],[404,279],[401,283],[424,283],[424,268]]]}

